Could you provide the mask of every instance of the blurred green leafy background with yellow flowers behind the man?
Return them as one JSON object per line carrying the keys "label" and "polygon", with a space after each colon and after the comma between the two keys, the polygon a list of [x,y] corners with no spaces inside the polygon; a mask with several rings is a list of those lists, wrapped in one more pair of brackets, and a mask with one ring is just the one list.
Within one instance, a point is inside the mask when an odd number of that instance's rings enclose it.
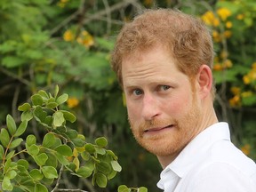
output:
{"label": "blurred green leafy background with yellow flowers behind the man", "polygon": [[[74,128],[87,140],[104,136],[123,171],[104,189],[66,176],[67,188],[159,191],[161,167],[132,137],[125,102],[109,67],[118,30],[141,10],[178,8],[204,20],[215,46],[215,107],[232,140],[256,160],[256,2],[254,0],[2,0],[0,2],[0,127],[38,90],[67,92]],[[36,136],[41,130],[31,124]]]}

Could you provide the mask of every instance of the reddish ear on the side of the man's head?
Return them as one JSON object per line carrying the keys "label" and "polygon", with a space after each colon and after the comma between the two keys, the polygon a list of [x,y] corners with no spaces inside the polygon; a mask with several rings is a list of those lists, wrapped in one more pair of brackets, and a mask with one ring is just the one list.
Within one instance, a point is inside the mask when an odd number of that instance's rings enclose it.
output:
{"label": "reddish ear on the side of the man's head", "polygon": [[199,85],[199,94],[201,99],[211,94],[212,90],[212,69],[207,65],[202,65],[197,74],[197,83]]}

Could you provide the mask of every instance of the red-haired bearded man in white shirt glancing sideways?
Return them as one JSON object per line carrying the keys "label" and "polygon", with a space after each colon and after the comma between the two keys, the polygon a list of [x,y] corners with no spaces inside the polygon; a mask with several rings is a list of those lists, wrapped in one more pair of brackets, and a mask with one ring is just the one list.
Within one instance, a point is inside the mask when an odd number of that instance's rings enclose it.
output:
{"label": "red-haired bearded man in white shirt glancing sideways", "polygon": [[117,36],[112,68],[135,139],[163,166],[165,192],[256,191],[256,165],[213,108],[212,37],[179,11],[148,10]]}

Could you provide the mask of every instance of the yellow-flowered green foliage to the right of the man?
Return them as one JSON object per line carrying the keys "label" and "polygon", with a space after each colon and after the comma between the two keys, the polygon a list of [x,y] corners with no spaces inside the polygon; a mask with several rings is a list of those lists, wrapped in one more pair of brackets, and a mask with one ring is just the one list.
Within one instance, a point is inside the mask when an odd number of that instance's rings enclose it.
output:
{"label": "yellow-flowered green foliage to the right of the man", "polygon": [[216,49],[213,73],[220,119],[231,124],[244,154],[255,159],[256,2],[222,0],[201,19],[212,28]]}

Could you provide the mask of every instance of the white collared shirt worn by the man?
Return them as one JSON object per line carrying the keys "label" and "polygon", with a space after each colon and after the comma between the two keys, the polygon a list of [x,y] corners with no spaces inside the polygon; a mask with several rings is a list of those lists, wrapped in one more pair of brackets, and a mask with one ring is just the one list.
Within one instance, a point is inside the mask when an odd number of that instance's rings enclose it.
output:
{"label": "white collared shirt worn by the man", "polygon": [[231,143],[227,123],[198,134],[160,178],[164,192],[256,192],[256,164]]}

